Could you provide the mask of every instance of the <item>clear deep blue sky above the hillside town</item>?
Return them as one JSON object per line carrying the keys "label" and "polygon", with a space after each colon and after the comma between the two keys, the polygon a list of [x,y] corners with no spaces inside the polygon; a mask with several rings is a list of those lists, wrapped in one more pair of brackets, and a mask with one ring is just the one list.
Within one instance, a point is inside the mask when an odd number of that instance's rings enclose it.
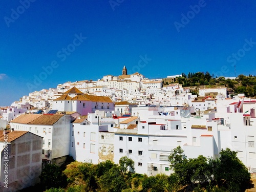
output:
{"label": "clear deep blue sky above the hillside town", "polygon": [[0,105],[66,81],[256,75],[256,2],[2,1]]}

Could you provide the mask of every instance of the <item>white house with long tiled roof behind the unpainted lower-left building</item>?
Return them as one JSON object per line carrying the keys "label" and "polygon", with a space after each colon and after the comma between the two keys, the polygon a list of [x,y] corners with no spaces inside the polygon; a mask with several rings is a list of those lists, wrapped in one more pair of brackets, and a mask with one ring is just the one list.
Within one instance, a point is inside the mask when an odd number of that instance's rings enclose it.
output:
{"label": "white house with long tiled roof behind the unpainted lower-left building", "polygon": [[15,131],[29,131],[43,137],[41,159],[61,165],[69,156],[72,117],[63,114],[20,115],[10,122]]}

